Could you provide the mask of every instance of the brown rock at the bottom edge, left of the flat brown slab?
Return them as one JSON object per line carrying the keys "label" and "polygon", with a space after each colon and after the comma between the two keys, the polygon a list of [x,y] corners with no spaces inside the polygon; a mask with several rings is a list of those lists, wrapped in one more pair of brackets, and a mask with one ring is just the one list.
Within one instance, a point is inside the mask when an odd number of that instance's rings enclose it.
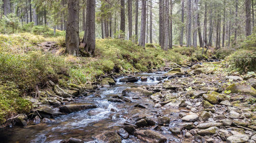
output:
{"label": "brown rock at the bottom edge, left of the flat brown slab", "polygon": [[105,131],[104,133],[101,133],[95,136],[95,138],[105,143],[121,143],[122,142],[122,139],[118,135],[118,133],[113,131]]}

